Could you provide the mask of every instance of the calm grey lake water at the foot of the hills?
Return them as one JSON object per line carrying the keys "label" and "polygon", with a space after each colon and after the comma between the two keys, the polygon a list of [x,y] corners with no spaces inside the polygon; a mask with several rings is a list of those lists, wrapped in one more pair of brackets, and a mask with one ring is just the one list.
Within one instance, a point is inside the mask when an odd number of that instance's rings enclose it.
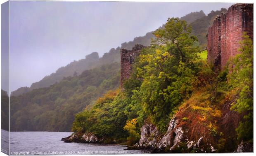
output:
{"label": "calm grey lake water at the foot of the hills", "polygon": [[125,150],[116,144],[64,143],[62,137],[71,132],[11,132],[11,155],[52,155],[52,154],[142,154],[149,151]]}

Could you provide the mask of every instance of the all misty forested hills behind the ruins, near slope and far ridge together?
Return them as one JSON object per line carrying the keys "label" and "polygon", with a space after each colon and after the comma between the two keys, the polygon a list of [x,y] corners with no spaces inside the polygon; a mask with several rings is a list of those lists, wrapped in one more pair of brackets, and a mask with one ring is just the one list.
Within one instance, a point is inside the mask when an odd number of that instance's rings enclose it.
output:
{"label": "all misty forested hills behind the ruins, near slope and far ridge together", "polygon": [[[202,12],[186,16],[197,19],[198,15],[202,16]],[[135,37],[133,41],[123,43],[121,47],[131,49],[135,44],[149,46],[152,37],[153,33],[147,33],[144,37]],[[76,113],[93,105],[94,100],[109,89],[118,88],[119,71],[120,47],[117,47],[101,58],[92,53],[85,59],[60,68],[31,88],[21,88],[15,93],[19,96],[11,96],[11,130],[70,131]]]}

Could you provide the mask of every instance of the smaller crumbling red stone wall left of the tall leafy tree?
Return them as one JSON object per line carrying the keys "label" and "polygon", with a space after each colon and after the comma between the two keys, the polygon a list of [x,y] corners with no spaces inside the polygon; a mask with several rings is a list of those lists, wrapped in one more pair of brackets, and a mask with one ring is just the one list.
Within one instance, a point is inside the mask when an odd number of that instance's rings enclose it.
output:
{"label": "smaller crumbling red stone wall left of the tall leafy tree", "polygon": [[131,64],[133,63],[136,56],[139,55],[141,49],[145,48],[141,44],[135,44],[132,50],[120,49],[121,52],[121,86],[123,81],[130,77],[132,70]]}

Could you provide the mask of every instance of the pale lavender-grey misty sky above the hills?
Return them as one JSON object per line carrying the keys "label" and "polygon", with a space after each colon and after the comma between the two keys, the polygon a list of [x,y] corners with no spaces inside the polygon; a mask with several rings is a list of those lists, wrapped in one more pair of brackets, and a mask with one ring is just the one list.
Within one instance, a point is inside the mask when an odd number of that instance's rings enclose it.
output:
{"label": "pale lavender-grey misty sky above the hills", "polygon": [[10,1],[10,91],[29,87],[93,51],[102,56],[123,42],[159,28],[168,17],[200,10],[208,14],[230,5]]}

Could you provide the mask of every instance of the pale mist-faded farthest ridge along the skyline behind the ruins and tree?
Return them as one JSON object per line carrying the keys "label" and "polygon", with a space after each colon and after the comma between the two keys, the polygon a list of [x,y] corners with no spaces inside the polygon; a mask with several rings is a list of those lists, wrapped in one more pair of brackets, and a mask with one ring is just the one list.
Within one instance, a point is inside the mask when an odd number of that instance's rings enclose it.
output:
{"label": "pale mist-faded farthest ridge along the skyline behind the ruins and tree", "polygon": [[[187,22],[191,23],[197,19],[202,19],[204,23],[211,23],[211,20],[213,19],[213,16],[215,17],[217,14],[220,14],[220,11],[212,12],[209,14],[209,16],[205,16],[203,11],[200,12],[192,12],[190,14],[187,14],[181,19],[186,20]],[[207,17],[207,18],[206,18]],[[208,20],[209,19],[209,20]],[[194,34],[199,36],[200,42],[206,43],[206,30],[209,25],[205,24],[201,26],[201,23],[195,23],[192,29],[194,30]],[[124,42],[121,44],[121,48],[124,49],[132,49],[132,47],[135,44],[142,44],[144,46],[149,46],[151,39],[154,38],[154,35],[152,32],[147,33],[145,36],[141,37],[135,37],[133,41],[130,42]],[[204,47],[205,48],[205,47]],[[21,87],[18,88],[16,91],[12,92],[12,96],[18,96],[23,93],[27,93],[28,91],[32,91],[36,88],[43,88],[48,87],[52,84],[55,84],[56,82],[59,82],[63,79],[63,77],[73,76],[74,72],[76,72],[77,75],[81,74],[84,70],[92,69],[94,67],[104,65],[106,63],[114,63],[120,61],[120,47],[112,48],[109,50],[108,53],[105,53],[101,58],[99,58],[97,52],[93,52],[90,55],[87,55],[84,59],[81,59],[79,61],[73,61],[66,65],[65,67],[59,68],[55,73],[52,73],[51,75],[45,76],[42,80],[35,82],[31,85],[31,87]]]}

